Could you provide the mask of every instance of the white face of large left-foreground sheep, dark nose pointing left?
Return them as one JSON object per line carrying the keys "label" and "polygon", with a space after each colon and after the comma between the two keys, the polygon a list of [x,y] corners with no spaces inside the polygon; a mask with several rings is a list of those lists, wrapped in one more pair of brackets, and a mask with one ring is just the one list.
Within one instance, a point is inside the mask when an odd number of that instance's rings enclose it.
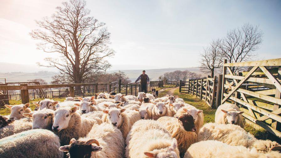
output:
{"label": "white face of large left-foreground sheep, dark nose pointing left", "polygon": [[58,110],[56,110],[54,113],[55,119],[52,129],[57,132],[62,129],[66,129],[68,127],[71,116],[76,111],[76,106],[73,108],[59,108]]}

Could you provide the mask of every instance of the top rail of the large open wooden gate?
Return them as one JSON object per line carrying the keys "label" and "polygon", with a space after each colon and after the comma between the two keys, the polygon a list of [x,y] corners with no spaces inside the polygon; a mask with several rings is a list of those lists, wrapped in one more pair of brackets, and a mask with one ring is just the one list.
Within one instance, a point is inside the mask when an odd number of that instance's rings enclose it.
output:
{"label": "top rail of the large open wooden gate", "polygon": [[225,63],[223,66],[281,66],[281,58],[262,61]]}

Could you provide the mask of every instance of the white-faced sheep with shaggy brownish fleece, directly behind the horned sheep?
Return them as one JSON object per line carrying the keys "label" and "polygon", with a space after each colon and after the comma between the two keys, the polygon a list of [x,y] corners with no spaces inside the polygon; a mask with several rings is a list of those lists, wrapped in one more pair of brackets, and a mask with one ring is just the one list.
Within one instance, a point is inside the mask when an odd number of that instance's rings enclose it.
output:
{"label": "white-faced sheep with shaggy brownish fleece, directly behind the horned sheep", "polygon": [[96,120],[84,118],[76,113],[77,107],[59,108],[54,113],[52,130],[60,137],[61,145],[66,145],[72,138],[84,137],[92,129]]}

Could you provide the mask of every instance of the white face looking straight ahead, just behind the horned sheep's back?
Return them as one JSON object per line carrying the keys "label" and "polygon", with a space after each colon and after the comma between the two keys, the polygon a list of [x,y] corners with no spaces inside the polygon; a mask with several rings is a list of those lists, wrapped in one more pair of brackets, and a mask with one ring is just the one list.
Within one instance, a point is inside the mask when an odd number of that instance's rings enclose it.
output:
{"label": "white face looking straight ahead, just behind the horned sheep's back", "polygon": [[108,114],[107,119],[109,124],[120,127],[122,123],[122,116],[121,113],[123,113],[126,109],[119,109],[119,108],[110,108],[109,110],[103,110],[103,113]]}

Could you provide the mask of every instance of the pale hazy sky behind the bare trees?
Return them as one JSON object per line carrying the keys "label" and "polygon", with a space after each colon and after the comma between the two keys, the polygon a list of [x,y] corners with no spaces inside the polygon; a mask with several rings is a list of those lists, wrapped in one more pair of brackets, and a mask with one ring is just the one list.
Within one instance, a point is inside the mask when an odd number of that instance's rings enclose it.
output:
{"label": "pale hazy sky behind the bare trees", "polygon": [[[34,65],[45,57],[28,33],[61,0],[0,0],[0,62]],[[127,69],[199,66],[211,40],[244,23],[258,25],[263,42],[253,60],[280,58],[281,1],[87,1],[91,16],[107,24],[116,53],[108,61]],[[114,69],[114,66],[112,69]],[[119,66],[120,67],[120,66]]]}

